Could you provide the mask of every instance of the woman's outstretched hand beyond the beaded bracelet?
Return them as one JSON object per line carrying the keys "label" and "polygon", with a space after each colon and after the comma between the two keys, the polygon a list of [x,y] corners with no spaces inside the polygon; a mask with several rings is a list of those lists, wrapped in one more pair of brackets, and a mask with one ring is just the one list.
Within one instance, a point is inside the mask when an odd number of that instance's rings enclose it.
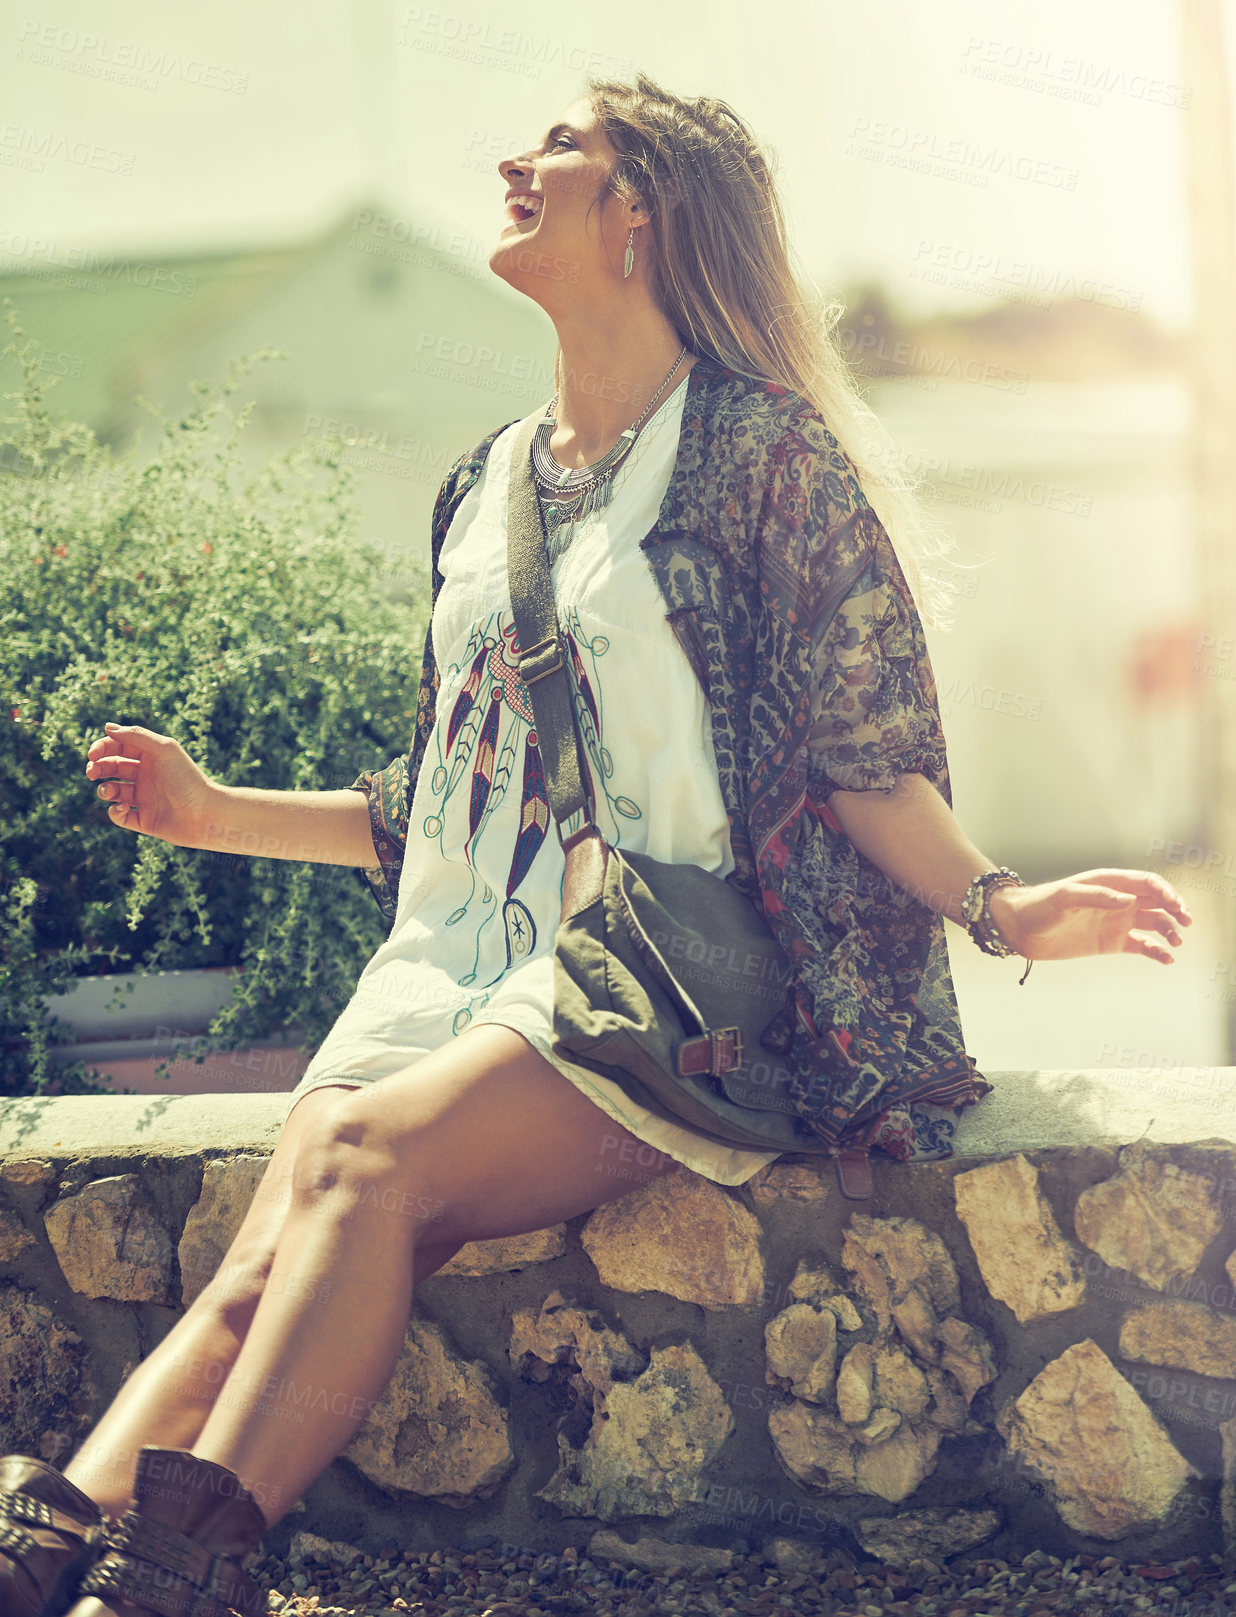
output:
{"label": "woman's outstretched hand beyond the beaded bracelet", "polygon": [[1000,936],[1027,960],[1073,960],[1082,954],[1144,954],[1170,965],[1179,927],[1192,915],[1170,881],[1145,870],[1082,870],[1035,886],[1000,886],[990,894]]}

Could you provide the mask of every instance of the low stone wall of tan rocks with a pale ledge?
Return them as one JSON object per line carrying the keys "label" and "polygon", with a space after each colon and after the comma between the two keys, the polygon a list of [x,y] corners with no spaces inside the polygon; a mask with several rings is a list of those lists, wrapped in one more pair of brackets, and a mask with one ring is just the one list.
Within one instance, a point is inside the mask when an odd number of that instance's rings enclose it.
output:
{"label": "low stone wall of tan rocks with a pale ledge", "polygon": [[[992,1082],[955,1156],[877,1153],[867,1203],[781,1158],[464,1248],[270,1544],[1231,1554],[1236,1069]],[[215,1273],[283,1108],[0,1103],[0,1452],[86,1441]]]}

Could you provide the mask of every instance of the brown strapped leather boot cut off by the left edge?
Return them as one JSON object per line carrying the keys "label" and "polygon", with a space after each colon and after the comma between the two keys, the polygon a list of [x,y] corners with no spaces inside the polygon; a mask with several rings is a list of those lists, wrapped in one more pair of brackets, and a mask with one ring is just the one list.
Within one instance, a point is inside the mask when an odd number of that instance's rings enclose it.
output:
{"label": "brown strapped leather boot cut off by the left edge", "polygon": [[47,1460],[0,1459],[0,1614],[60,1617],[104,1551],[107,1522]]}

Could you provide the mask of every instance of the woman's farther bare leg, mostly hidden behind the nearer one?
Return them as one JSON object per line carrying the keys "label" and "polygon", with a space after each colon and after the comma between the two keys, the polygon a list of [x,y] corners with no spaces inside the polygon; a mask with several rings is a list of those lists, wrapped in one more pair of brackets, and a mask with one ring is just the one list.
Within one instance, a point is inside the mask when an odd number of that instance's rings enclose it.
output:
{"label": "woman's farther bare leg, mostly hidden behind the nearer one", "polygon": [[[112,1515],[128,1509],[138,1450],[144,1444],[193,1449],[236,1362],[270,1273],[288,1211],[296,1153],[309,1125],[354,1087],[311,1090],[293,1106],[217,1274],[126,1378],[94,1431],[63,1467],[68,1480],[100,1509]],[[456,1250],[424,1242],[416,1255],[414,1279],[425,1279]]]}

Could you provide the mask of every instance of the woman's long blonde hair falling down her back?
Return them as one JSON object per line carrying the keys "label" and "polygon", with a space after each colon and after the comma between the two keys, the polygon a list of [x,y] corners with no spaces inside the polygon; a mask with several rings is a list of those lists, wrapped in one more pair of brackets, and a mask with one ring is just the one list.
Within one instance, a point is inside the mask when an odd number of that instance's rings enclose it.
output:
{"label": "woman's long blonde hair falling down her back", "polygon": [[[791,265],[772,167],[751,129],[726,102],[683,99],[646,73],[634,84],[589,78],[586,86],[620,154],[608,189],[650,210],[641,241],[650,233],[657,306],[692,353],[775,382],[819,411],[854,462],[922,621],[950,627],[956,585],[933,563],[956,542],[925,509],[919,480],[896,469],[896,446],[833,338],[844,304]],[[561,349],[555,374],[560,365]]]}

